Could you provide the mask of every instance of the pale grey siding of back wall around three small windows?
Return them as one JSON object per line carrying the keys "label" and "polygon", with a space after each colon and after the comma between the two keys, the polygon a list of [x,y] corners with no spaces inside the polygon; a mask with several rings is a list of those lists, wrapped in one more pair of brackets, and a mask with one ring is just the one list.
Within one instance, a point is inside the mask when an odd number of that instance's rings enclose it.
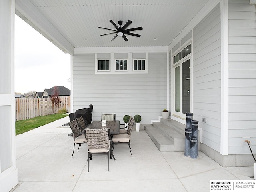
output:
{"label": "pale grey siding of back wall around three small windows", "polygon": [[95,74],[95,54],[73,56],[74,111],[94,106],[93,120],[102,113],[140,114],[142,124],[158,118],[167,103],[167,53],[148,54],[148,74]]}

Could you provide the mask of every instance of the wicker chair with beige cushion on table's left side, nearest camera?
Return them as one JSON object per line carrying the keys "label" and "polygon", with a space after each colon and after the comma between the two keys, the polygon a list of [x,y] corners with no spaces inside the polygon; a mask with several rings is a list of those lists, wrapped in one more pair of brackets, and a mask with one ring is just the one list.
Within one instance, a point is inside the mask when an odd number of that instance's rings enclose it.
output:
{"label": "wicker chair with beige cushion on table's left side, nearest camera", "polygon": [[69,126],[70,126],[70,128],[72,130],[73,139],[74,139],[74,148],[73,148],[73,153],[72,153],[72,156],[71,156],[71,157],[73,157],[74,150],[75,150],[75,145],[78,144],[78,150],[79,150],[81,148],[81,144],[87,143],[87,140],[86,140],[85,134],[83,134],[80,131],[80,128],[78,126],[78,123],[77,123],[76,119],[71,121],[71,122],[69,122]]}

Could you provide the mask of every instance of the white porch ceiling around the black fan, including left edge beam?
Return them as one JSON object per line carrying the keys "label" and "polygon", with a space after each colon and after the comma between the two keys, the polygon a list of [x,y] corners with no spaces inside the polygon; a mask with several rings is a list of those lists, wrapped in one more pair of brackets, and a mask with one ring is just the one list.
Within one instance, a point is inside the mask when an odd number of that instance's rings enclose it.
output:
{"label": "white porch ceiling around the black fan, including left edge beam", "polygon": [[[216,0],[16,0],[16,14],[52,41],[72,54],[76,47],[168,46],[193,18],[206,12]],[[218,0],[217,0],[218,2]],[[142,26],[134,31],[140,38],[126,35],[111,39],[122,20]],[[157,40],[154,40],[157,38]],[[85,40],[87,39],[87,40]]]}

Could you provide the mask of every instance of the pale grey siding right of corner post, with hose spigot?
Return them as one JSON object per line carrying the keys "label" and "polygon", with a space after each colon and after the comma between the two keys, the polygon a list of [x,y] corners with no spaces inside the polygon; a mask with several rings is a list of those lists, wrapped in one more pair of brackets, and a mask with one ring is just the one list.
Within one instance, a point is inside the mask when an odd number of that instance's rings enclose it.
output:
{"label": "pale grey siding right of corner post, with hose spigot", "polygon": [[243,138],[256,150],[256,8],[229,2],[229,154],[249,154]]}

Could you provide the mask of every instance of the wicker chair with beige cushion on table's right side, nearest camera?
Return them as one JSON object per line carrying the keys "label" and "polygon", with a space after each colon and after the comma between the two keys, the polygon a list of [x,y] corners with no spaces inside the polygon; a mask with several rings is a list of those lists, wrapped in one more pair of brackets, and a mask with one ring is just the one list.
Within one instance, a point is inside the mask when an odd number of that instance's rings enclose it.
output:
{"label": "wicker chair with beige cushion on table's right side, nearest camera", "polygon": [[[132,116],[131,116],[132,117]],[[131,149],[131,146],[130,146],[130,138],[131,138],[131,133],[132,133],[132,127],[134,125],[134,118],[131,118],[130,120],[130,123],[128,125],[128,130],[125,134],[116,134],[116,135],[113,135],[112,137],[112,142],[114,144],[123,144],[123,143],[126,143],[128,144],[129,146],[129,149],[130,149],[130,153],[132,155],[132,149]]]}

